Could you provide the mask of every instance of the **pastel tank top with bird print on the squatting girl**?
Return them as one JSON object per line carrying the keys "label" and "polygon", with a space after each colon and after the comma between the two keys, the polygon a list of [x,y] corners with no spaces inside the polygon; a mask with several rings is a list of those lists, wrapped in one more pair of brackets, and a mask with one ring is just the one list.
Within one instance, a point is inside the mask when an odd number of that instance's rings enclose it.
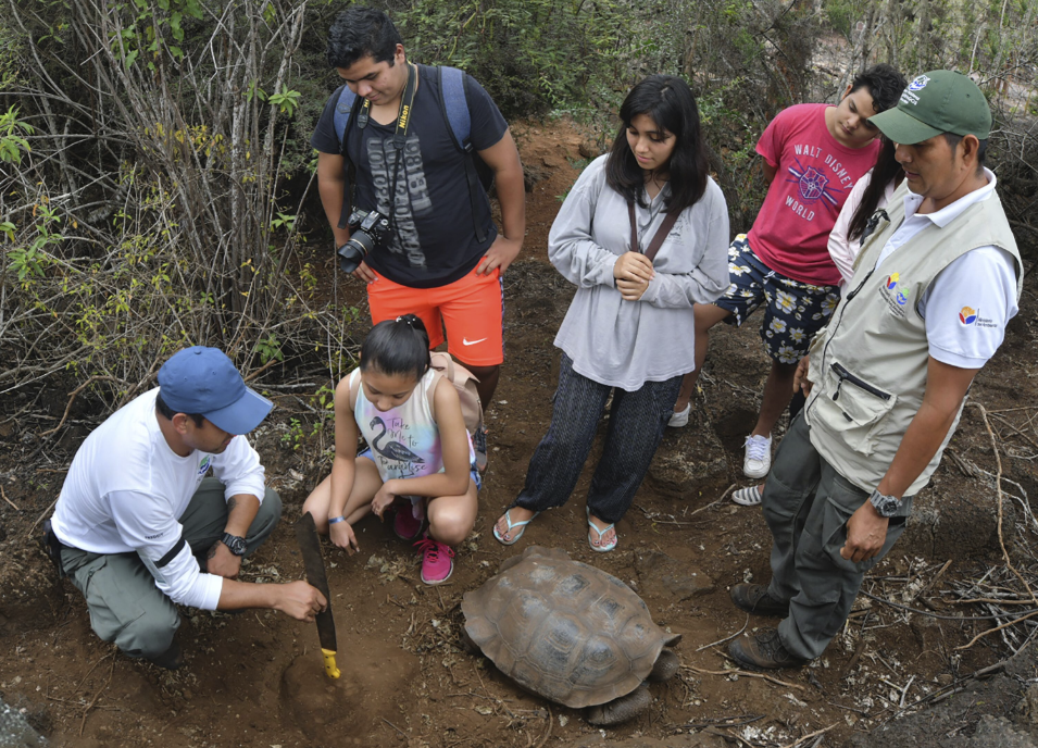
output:
{"label": "pastel tank top with bird print on the squatting girl", "polygon": [[390,478],[413,478],[443,471],[440,433],[433,420],[429,397],[437,373],[430,369],[408,400],[385,412],[375,408],[360,384],[361,370],[350,374],[350,390],[357,384],[353,417],[371,447],[372,460],[383,483]]}

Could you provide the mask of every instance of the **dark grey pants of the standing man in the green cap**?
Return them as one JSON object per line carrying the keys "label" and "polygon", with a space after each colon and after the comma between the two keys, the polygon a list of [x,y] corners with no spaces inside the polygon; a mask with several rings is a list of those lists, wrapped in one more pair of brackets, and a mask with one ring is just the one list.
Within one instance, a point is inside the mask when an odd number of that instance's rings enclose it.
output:
{"label": "dark grey pants of the standing man in the green cap", "polygon": [[774,538],[768,591],[789,601],[778,636],[790,654],[805,660],[818,657],[839,634],[865,572],[901,537],[912,510],[912,499],[905,497],[902,515],[890,520],[877,556],[861,563],[843,559],[847,521],[868,494],[822,458],[810,433],[802,414],[790,424],[775,453],[762,502]]}

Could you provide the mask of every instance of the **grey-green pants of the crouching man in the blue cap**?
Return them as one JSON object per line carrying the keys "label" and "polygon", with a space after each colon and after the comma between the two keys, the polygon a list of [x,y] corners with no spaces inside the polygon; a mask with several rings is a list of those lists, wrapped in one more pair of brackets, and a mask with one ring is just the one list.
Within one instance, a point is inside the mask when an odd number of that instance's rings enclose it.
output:
{"label": "grey-green pants of the crouching man in the blue cap", "polygon": [[[246,535],[246,556],[266,540],[280,516],[280,497],[267,488]],[[216,478],[202,481],[179,521],[184,539],[204,569],[205,553],[223,537],[227,524],[223,484]],[[61,565],[86,598],[90,626],[104,641],[114,641],[130,657],[149,659],[173,644],[180,616],[137,553],[88,553],[65,547]]]}

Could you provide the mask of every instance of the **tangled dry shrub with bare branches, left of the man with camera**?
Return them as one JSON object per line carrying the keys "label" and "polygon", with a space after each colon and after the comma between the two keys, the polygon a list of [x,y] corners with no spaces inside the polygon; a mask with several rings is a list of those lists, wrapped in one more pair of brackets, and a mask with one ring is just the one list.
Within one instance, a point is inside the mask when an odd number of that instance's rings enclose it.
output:
{"label": "tangled dry shrub with bare branches, left of the man with camera", "polygon": [[58,29],[7,4],[0,96],[27,114],[0,162],[0,392],[70,370],[116,404],[188,344],[246,374],[340,349],[280,166],[307,3],[77,0]]}

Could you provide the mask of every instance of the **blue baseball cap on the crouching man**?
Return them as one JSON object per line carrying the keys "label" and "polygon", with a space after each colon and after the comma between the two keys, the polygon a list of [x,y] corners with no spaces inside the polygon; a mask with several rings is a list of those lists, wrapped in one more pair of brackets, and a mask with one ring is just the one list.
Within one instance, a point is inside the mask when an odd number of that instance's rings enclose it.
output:
{"label": "blue baseball cap on the crouching man", "polygon": [[192,346],[177,351],[159,370],[159,392],[177,413],[199,413],[228,434],[248,434],[274,407],[216,348]]}

